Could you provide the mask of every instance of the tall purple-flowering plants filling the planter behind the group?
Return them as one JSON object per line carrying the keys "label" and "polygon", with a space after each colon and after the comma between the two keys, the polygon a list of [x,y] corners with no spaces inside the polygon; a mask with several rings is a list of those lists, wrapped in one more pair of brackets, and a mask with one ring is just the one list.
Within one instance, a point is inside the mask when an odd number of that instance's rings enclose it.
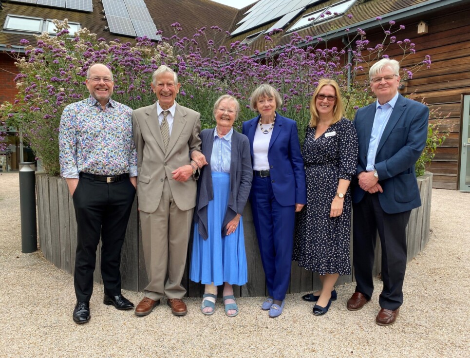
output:
{"label": "tall purple-flowering plants filling the planter behind the group", "polygon": [[[113,99],[133,109],[154,103],[151,74],[160,64],[169,65],[182,83],[178,103],[200,112],[203,128],[215,125],[215,99],[231,94],[241,104],[235,124],[240,130],[241,123],[255,115],[249,108],[250,94],[259,84],[270,83],[283,96],[282,115],[298,121],[303,142],[310,119],[310,98],[320,78],[338,81],[347,116],[352,118],[358,107],[373,101],[368,83],[357,80],[364,75],[363,64],[386,57],[390,46],[402,49],[398,59],[414,54],[410,40],[397,40],[395,33],[404,27],[395,26],[393,21],[383,27],[384,39],[374,46],[361,29],[351,33],[343,48],[330,47],[323,38],[302,38],[297,33],[293,33],[289,43],[274,46],[282,30],[273,30],[264,37],[262,50],[253,50],[239,41],[216,46],[229,35],[219,27],[201,28],[191,38],[180,38],[180,24],[174,23],[172,37],[163,38],[160,43],[137,38],[133,45],[118,40],[106,42],[87,29],[71,37],[67,21],[54,22],[57,36],[44,33],[37,36],[35,44],[22,40],[25,54],[13,53],[17,55],[19,75],[15,81],[19,93],[14,103],[5,102],[0,108],[0,118],[19,128],[50,175],[60,172],[60,115],[67,104],[89,95],[84,82],[86,71],[94,62],[110,66],[115,80]],[[411,77],[419,67],[430,64],[426,56],[403,75]]]}

